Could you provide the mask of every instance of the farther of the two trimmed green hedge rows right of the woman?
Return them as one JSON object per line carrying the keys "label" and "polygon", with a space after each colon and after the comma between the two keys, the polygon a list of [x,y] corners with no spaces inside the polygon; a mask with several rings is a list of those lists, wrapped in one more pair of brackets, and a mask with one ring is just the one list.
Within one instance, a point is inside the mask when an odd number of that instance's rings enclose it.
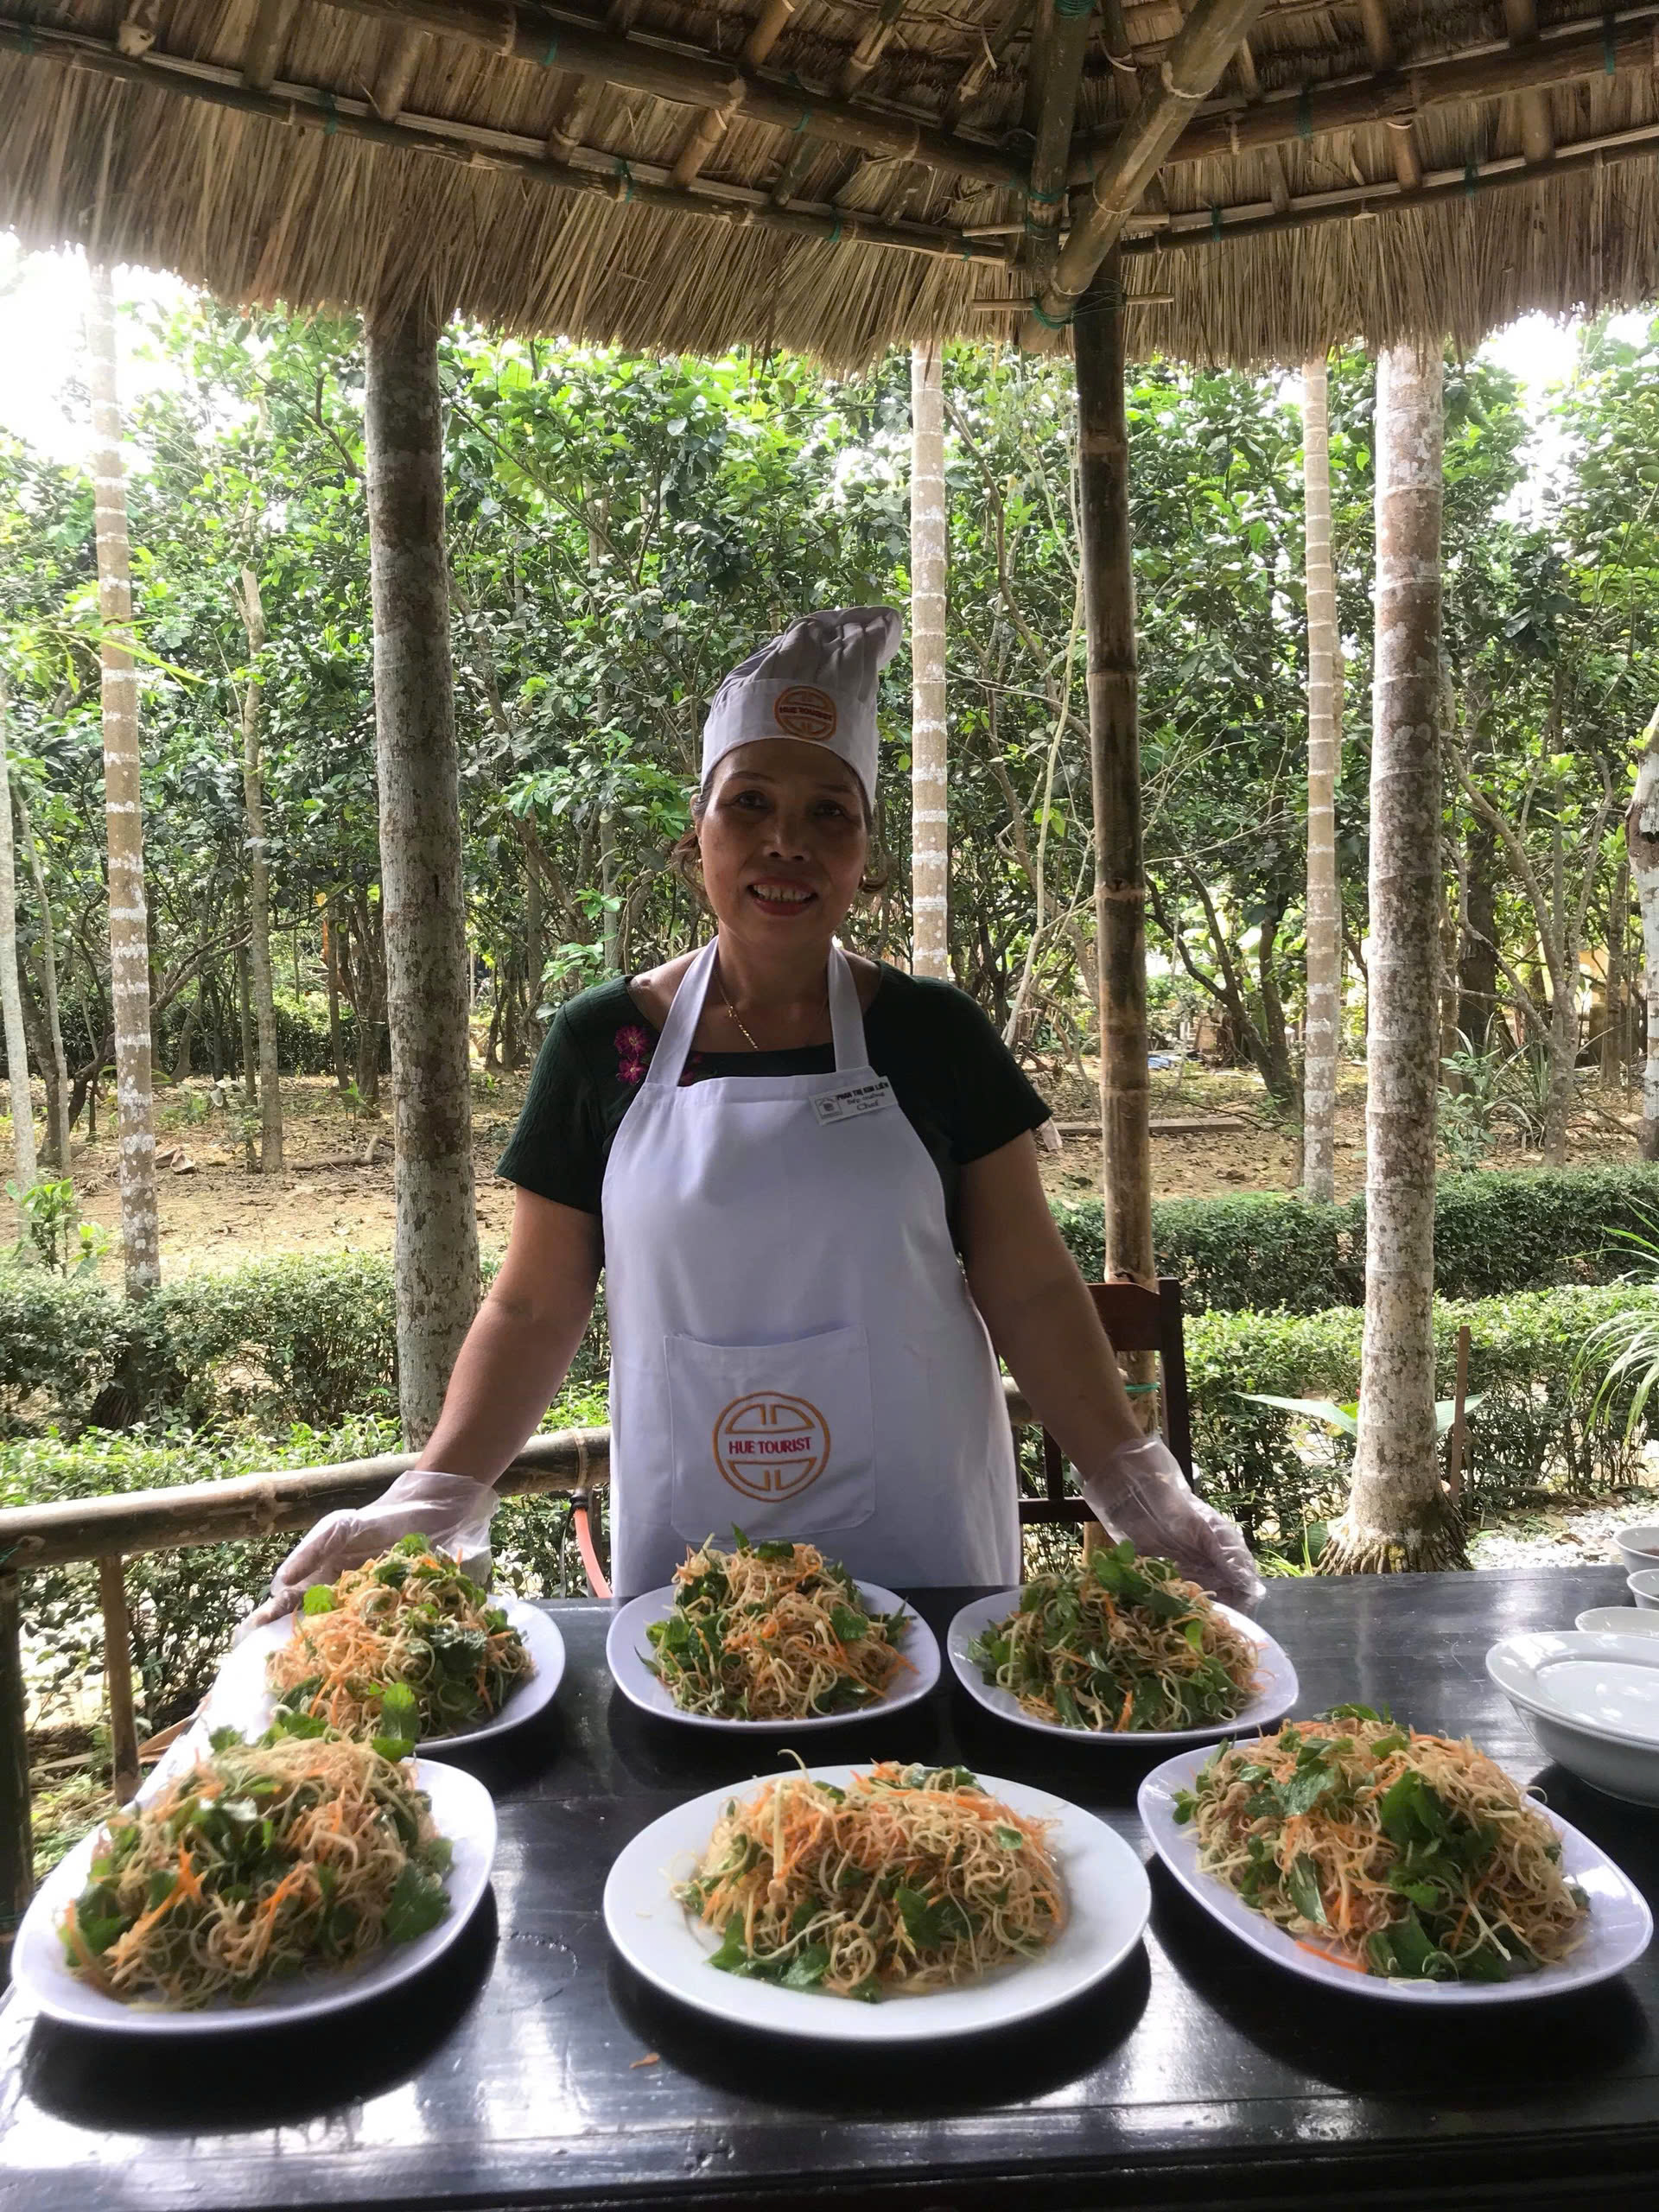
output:
{"label": "farther of the two trimmed green hedge rows right of the woman", "polygon": [[[1097,1199],[1055,1206],[1091,1281],[1104,1267]],[[1630,1267],[1621,1232],[1652,1234],[1659,1168],[1537,1168],[1442,1175],[1436,1186],[1436,1292],[1493,1298],[1555,1283],[1608,1283]],[[1190,1314],[1318,1314],[1365,1303],[1365,1199],[1164,1199],[1152,1208],[1159,1274],[1186,1285]]]}

